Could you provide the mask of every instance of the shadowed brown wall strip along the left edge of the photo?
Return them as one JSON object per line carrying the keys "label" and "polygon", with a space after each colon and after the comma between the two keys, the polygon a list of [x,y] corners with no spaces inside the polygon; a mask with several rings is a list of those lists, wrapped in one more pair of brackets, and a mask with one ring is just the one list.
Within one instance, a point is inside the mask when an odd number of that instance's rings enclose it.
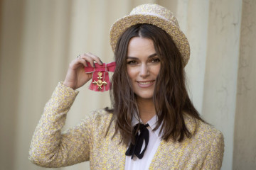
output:
{"label": "shadowed brown wall strip along the left edge of the photo", "polygon": [[0,169],[14,169],[23,1],[0,1]]}

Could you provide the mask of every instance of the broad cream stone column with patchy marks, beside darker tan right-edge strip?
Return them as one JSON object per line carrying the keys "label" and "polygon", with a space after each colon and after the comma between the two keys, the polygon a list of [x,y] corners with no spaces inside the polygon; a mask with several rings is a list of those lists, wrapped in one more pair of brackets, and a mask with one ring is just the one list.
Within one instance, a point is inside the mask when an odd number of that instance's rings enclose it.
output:
{"label": "broad cream stone column with patchy marks, beside darker tan right-edge strip", "polygon": [[210,0],[203,118],[223,132],[222,169],[232,169],[241,0]]}

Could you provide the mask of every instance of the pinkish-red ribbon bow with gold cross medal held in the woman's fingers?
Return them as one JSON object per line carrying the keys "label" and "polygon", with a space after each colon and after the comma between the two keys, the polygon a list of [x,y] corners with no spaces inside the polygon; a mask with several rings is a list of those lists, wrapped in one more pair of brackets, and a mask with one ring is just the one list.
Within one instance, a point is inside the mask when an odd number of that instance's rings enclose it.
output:
{"label": "pinkish-red ribbon bow with gold cross medal held in the woman's fingers", "polygon": [[87,62],[85,72],[92,73],[92,83],[89,89],[92,91],[108,91],[111,86],[108,72],[114,72],[115,66],[115,62],[110,62],[102,65],[95,63],[95,67],[92,67],[90,62]]}

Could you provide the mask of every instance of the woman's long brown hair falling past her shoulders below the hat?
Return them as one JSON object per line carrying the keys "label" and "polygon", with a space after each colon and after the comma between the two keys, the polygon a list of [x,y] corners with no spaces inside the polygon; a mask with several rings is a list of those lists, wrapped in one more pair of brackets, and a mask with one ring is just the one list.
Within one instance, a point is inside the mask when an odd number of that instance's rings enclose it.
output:
{"label": "woman's long brown hair falling past her shoulders below the hat", "polygon": [[181,53],[169,34],[151,24],[137,24],[128,28],[117,42],[114,52],[117,67],[112,76],[112,89],[110,90],[112,109],[106,108],[106,111],[113,113],[114,135],[119,132],[124,145],[128,145],[130,141],[134,142],[132,116],[139,113],[136,94],[132,90],[132,84],[127,74],[127,48],[129,40],[134,37],[151,39],[154,42],[156,54],[161,60],[161,69],[156,78],[153,96],[158,118],[154,130],[159,128],[162,123],[161,138],[166,141],[172,139],[181,142],[185,136],[191,137],[191,132],[186,128],[183,114],[187,113],[193,118],[202,119],[186,91]]}

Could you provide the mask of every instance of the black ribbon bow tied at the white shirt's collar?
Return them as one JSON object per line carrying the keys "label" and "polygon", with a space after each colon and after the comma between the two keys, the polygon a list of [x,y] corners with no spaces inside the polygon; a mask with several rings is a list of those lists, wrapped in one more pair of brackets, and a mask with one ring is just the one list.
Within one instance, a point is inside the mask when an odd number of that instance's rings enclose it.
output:
{"label": "black ribbon bow tied at the white shirt's collar", "polygon": [[[139,126],[139,132],[136,132],[136,130],[138,129]],[[138,157],[139,159],[142,159],[144,152],[146,151],[146,147],[149,144],[149,130],[146,128],[148,127],[149,124],[142,124],[142,123],[138,123],[137,125],[134,126],[134,136],[135,136],[135,144],[133,145],[132,142],[129,145],[129,148],[127,149],[127,152],[125,152],[125,155],[127,156],[132,156],[131,159],[133,159],[134,155],[136,155],[136,157]],[[145,140],[145,147],[142,150],[142,145],[143,145],[143,141]]]}

